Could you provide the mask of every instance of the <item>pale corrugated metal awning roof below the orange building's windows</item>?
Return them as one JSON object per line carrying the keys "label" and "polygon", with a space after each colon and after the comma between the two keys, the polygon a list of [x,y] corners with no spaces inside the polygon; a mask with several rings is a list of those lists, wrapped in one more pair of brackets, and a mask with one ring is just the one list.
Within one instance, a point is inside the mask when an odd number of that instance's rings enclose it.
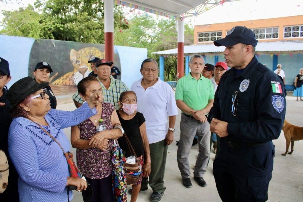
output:
{"label": "pale corrugated metal awning roof below the orange building's windows", "polygon": [[[185,45],[184,55],[223,55],[225,47],[215,46],[214,44],[202,45]],[[170,49],[165,51],[152,52],[161,56],[175,56],[178,49]],[[301,41],[275,41],[275,42],[258,42],[256,46],[256,54],[297,54],[303,53],[303,40]]]}

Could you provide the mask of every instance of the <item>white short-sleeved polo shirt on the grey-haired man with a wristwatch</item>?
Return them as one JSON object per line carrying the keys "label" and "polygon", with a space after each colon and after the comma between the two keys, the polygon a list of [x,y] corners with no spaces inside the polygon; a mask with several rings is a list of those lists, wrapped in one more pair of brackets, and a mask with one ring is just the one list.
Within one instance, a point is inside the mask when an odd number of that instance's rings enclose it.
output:
{"label": "white short-sleeved polo shirt on the grey-haired man with a wristwatch", "polygon": [[141,79],[135,81],[131,90],[137,95],[137,111],[145,118],[146,133],[149,143],[160,142],[168,132],[166,123],[168,116],[178,114],[174,92],[166,82],[158,81],[146,90],[142,87]]}

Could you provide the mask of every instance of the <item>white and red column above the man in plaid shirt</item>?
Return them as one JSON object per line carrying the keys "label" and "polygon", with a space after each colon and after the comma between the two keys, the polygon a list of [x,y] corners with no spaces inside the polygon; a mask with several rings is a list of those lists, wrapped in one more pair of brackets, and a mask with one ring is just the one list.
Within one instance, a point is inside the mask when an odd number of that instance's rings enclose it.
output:
{"label": "white and red column above the man in plaid shirt", "polygon": [[105,59],[114,61],[114,2],[104,0]]}

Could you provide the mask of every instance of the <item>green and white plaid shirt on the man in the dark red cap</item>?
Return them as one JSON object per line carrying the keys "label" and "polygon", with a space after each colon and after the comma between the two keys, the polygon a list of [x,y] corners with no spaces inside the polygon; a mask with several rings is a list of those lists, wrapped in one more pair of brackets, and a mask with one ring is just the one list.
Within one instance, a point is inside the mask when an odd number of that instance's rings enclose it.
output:
{"label": "green and white plaid shirt on the man in the dark red cap", "polygon": [[[125,85],[125,83],[123,83],[122,81],[114,79],[112,76],[110,78],[111,78],[111,84],[109,85],[109,88],[106,89],[103,83],[97,77],[102,87],[102,93],[104,97],[103,102],[111,103],[118,110],[119,109],[118,101],[120,94],[124,91],[128,91],[128,88]],[[73,99],[80,104],[84,102],[78,91],[73,95]]]}

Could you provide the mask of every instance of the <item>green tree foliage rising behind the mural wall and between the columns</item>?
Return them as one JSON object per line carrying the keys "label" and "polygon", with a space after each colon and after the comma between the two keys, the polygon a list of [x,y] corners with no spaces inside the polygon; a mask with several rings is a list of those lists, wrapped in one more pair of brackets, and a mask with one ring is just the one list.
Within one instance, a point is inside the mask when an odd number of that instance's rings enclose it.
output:
{"label": "green tree foliage rising behind the mural wall and between the columns", "polygon": [[[10,2],[11,0],[0,0]],[[16,1],[18,2],[18,1]],[[102,0],[37,0],[35,5],[16,11],[3,11],[0,34],[104,43],[104,2]],[[151,15],[134,15],[126,20],[121,7],[114,8],[115,45],[147,48],[148,57],[159,62],[152,52],[177,48],[175,21],[156,20]],[[185,24],[185,45],[194,42],[193,29]],[[177,58],[165,59],[165,80],[175,80]]]}

